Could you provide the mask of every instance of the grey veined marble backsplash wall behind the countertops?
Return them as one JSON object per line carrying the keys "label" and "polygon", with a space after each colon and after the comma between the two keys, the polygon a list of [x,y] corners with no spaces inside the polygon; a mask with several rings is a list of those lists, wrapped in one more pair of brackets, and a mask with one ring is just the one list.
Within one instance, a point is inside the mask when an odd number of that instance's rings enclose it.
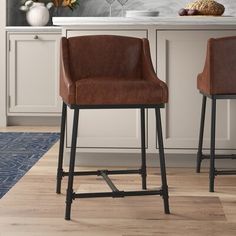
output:
{"label": "grey veined marble backsplash wall behind the countertops", "polygon": [[[4,0],[1,0],[4,1]],[[46,1],[46,0],[45,0]],[[49,1],[49,0],[47,0]],[[195,0],[128,0],[127,10],[158,10],[160,16],[176,16],[178,10],[184,8],[187,3]],[[217,0],[225,6],[225,15],[236,16],[235,0]],[[19,11],[20,0],[7,0],[8,24],[25,25],[25,13]],[[121,6],[117,0],[112,5],[112,15],[121,15]],[[52,12],[51,12],[52,13]],[[80,0],[80,6],[73,12],[68,8],[61,11],[62,16],[108,16],[109,5],[106,0]]]}

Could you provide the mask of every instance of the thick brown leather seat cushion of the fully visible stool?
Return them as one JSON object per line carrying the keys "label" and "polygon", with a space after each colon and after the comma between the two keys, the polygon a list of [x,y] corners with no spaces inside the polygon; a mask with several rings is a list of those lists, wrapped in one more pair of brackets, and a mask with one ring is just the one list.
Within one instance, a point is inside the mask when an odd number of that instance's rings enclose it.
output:
{"label": "thick brown leather seat cushion of the fully visible stool", "polygon": [[167,87],[155,80],[86,78],[76,82],[78,105],[160,104],[167,100]]}

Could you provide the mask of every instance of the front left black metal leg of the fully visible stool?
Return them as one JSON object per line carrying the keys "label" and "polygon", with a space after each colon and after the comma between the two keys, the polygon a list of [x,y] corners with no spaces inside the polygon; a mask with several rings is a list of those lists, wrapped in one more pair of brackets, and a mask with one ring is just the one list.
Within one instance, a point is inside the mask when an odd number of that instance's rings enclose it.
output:
{"label": "front left black metal leg of the fully visible stool", "polygon": [[67,187],[67,195],[66,195],[66,214],[65,214],[65,219],[66,220],[70,220],[71,204],[72,204],[72,200],[73,200],[73,182],[74,182],[74,169],[75,169],[75,155],[76,155],[78,119],[79,119],[79,109],[75,109],[74,110],[72,140],[71,140],[71,153],[70,153],[70,166],[69,166],[69,175],[68,175],[68,187]]}

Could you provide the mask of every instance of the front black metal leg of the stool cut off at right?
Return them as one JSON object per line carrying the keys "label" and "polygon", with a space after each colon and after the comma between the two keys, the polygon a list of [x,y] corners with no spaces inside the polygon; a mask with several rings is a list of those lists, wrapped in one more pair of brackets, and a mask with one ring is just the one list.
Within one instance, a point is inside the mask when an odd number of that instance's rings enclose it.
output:
{"label": "front black metal leg of the stool cut off at right", "polygon": [[211,153],[210,153],[210,172],[209,172],[209,191],[214,192],[215,180],[215,131],[216,131],[216,99],[212,97],[211,107]]}

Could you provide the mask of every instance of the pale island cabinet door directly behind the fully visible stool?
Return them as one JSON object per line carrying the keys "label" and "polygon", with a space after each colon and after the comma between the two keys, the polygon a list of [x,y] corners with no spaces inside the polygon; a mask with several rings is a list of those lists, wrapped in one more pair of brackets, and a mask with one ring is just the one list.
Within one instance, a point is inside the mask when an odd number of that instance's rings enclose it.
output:
{"label": "pale island cabinet door directly behind the fully visible stool", "polygon": [[[146,38],[146,30],[76,30],[67,37],[81,35],[123,35]],[[71,144],[73,112],[68,111],[67,143]],[[140,111],[138,109],[81,110],[78,147],[140,148]]]}

